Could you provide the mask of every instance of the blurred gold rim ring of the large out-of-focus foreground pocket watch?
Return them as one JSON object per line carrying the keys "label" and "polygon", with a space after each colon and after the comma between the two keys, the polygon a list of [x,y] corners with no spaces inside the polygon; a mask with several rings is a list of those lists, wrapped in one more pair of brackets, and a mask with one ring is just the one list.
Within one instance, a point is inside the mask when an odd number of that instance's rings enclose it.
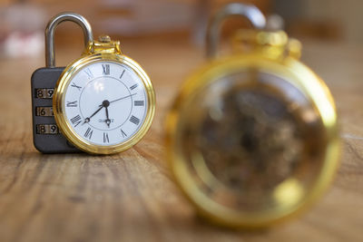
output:
{"label": "blurred gold rim ring of the large out-of-focus foreground pocket watch", "polygon": [[[219,80],[222,76],[236,71],[261,70],[272,73],[285,81],[290,82],[307,97],[319,111],[323,128],[327,134],[327,148],[325,150],[323,167],[319,173],[313,189],[309,195],[302,199],[299,204],[289,209],[276,210],[268,214],[246,214],[230,208],[225,208],[211,198],[205,196],[189,173],[185,157],[180,149],[181,141],[179,125],[183,119],[183,106],[192,100],[192,97],[204,86]],[[313,73],[309,67],[294,58],[287,57],[284,60],[271,60],[258,54],[236,54],[221,58],[204,64],[200,69],[191,74],[182,86],[181,92],[172,104],[172,109],[166,117],[165,145],[167,160],[172,170],[172,175],[183,193],[193,203],[203,217],[226,227],[266,227],[298,215],[308,208],[322,192],[328,188],[338,168],[338,157],[340,153],[340,141],[338,139],[337,111],[333,98],[326,84]]]}

